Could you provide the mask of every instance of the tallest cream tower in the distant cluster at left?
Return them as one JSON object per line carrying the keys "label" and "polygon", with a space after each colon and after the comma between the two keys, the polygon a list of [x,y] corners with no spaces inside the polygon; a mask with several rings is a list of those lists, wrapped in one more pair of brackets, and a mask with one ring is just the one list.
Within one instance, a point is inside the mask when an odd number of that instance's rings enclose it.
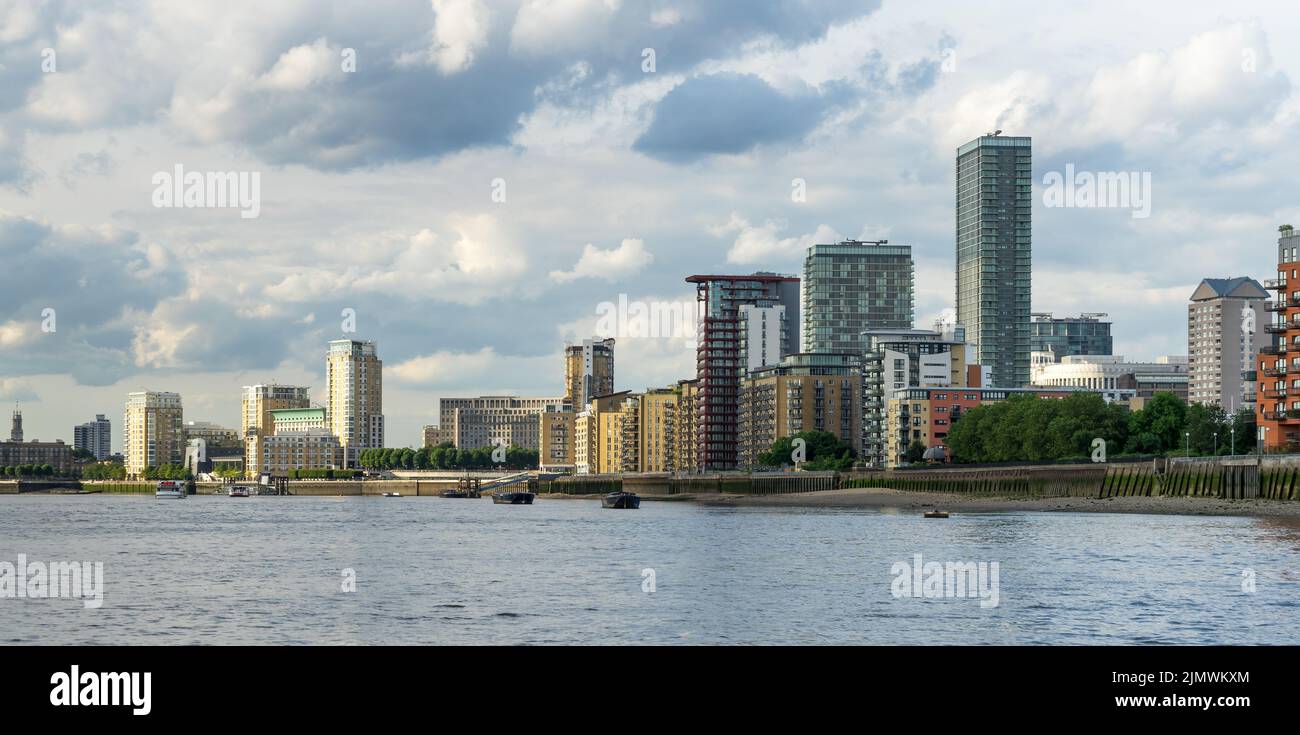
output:
{"label": "tallest cream tower in the distant cluster at left", "polygon": [[363,449],[384,448],[384,362],[374,342],[333,340],[325,355],[329,428],[356,467]]}

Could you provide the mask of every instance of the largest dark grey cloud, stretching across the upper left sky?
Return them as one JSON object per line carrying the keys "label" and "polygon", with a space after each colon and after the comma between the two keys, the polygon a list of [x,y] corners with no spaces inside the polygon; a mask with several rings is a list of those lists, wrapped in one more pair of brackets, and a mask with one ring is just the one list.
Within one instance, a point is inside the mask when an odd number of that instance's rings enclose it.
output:
{"label": "largest dark grey cloud, stretching across the upper left sky", "polygon": [[[688,70],[705,59],[722,59],[755,39],[797,44],[818,38],[827,27],[867,14],[878,3],[862,0],[814,3],[755,0],[744,4],[703,3],[672,9],[668,5],[623,3],[601,30],[582,29],[573,46],[519,52],[511,48],[511,30],[521,3],[489,3],[493,22],[486,43],[462,70],[443,73],[436,65],[399,62],[419,57],[430,43],[438,18],[429,3],[378,0],[373,12],[360,13],[346,4],[333,12],[286,12],[270,25],[248,34],[243,46],[224,49],[229,69],[269,72],[280,55],[324,39],[337,56],[355,48],[356,72],[337,74],[326,83],[303,88],[268,88],[239,83],[191,87],[191,62],[157,68],[129,39],[87,39],[68,53],[60,52],[60,73],[95,69],[118,86],[110,114],[99,126],[148,122],[168,113],[168,96],[203,104],[207,95],[229,95],[229,105],[203,108],[213,121],[208,142],[216,139],[251,150],[274,164],[302,164],[322,170],[347,170],[385,163],[438,159],[463,150],[508,146],[524,120],[545,95],[549,81],[569,75],[575,64],[590,73],[576,82],[578,90],[597,91],[611,82],[638,81],[641,53],[654,48],[662,72]],[[143,3],[124,0],[113,13],[138,17],[148,25],[156,12]],[[105,9],[104,12],[108,12]],[[39,52],[53,44],[58,27],[73,26],[98,8],[53,3],[34,21],[35,30],[21,43],[0,48],[0,125],[5,112],[21,118],[18,130],[65,129],[65,122],[36,120],[23,113],[23,103],[39,83]],[[655,10],[675,13],[673,22],[650,23]],[[378,22],[382,17],[385,22]],[[114,26],[116,27],[116,26]],[[114,43],[122,42],[122,43]],[[135,62],[138,61],[138,64]],[[148,79],[130,77],[140,65],[152,68]],[[121,77],[121,78],[117,78]],[[10,121],[13,122],[13,121]],[[12,125],[9,127],[13,127]],[[0,182],[25,185],[32,172],[22,159],[22,137],[10,134],[8,150],[0,144]]]}

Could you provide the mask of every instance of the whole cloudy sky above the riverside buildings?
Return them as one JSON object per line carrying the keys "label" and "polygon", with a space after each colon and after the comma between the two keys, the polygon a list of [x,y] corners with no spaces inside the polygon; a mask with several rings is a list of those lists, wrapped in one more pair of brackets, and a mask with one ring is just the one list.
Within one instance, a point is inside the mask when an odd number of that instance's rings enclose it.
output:
{"label": "whole cloudy sky above the riverside buildings", "polygon": [[[238,427],[242,385],[320,399],[355,337],[417,445],[439,395],[559,394],[602,302],[840,237],[913,247],[928,327],[954,150],[993,129],[1034,138],[1035,311],[1186,354],[1200,278],[1269,277],[1300,225],[1297,36],[1282,0],[0,0],[0,401],[120,449],[129,390]],[[1148,172],[1150,216],[1045,207],[1067,164]],[[256,173],[257,217],[156,207],[177,165]],[[694,373],[616,337],[620,389]]]}

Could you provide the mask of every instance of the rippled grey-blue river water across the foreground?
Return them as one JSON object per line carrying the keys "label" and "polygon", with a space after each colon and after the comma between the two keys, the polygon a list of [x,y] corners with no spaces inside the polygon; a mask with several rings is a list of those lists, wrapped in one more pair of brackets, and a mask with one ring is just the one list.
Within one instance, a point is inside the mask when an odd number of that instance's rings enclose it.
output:
{"label": "rippled grey-blue river water across the foreground", "polygon": [[[998,562],[998,606],[896,598],[918,553]],[[104,562],[107,591],[0,598],[9,644],[1300,643],[1290,520],[3,497],[0,561],[18,554]]]}

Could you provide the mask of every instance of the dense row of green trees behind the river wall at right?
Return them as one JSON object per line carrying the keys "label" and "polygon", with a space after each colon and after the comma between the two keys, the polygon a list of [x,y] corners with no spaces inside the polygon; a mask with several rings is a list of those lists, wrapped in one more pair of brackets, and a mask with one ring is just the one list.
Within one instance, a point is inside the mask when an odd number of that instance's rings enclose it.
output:
{"label": "dense row of green trees behind the river wall at right", "polygon": [[1254,434],[1249,410],[1228,415],[1219,406],[1157,393],[1131,411],[1080,392],[1063,399],[1013,395],[978,406],[953,420],[946,445],[954,462],[1056,462],[1092,457],[1097,438],[1108,458],[1248,454]]}

